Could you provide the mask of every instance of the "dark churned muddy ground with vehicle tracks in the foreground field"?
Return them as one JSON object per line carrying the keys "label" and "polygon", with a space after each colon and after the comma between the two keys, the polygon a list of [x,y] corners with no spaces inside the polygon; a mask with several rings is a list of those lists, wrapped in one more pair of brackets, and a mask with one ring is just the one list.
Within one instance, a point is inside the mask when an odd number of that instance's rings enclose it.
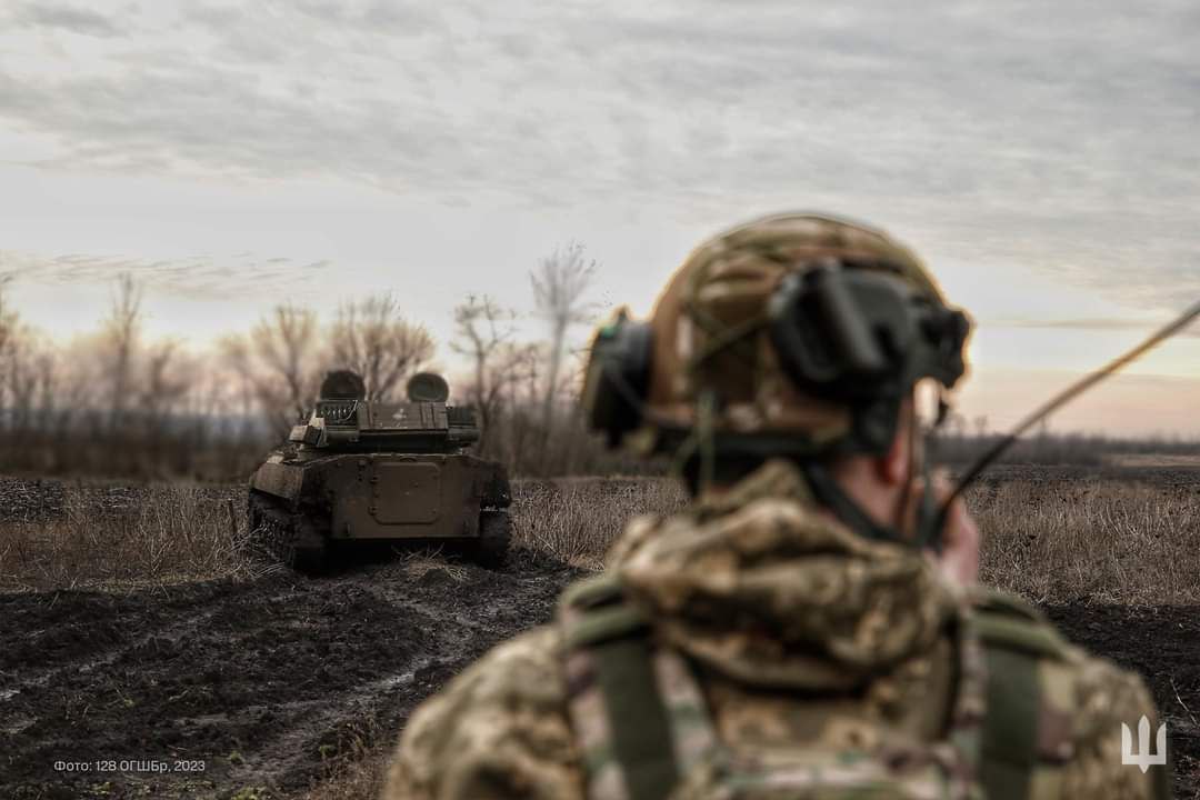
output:
{"label": "dark churned muddy ground with vehicle tracks in the foreground field", "polygon": [[[1162,480],[1190,492],[1195,475]],[[53,487],[0,481],[5,511],[53,519],[70,505]],[[144,501],[89,492],[115,516]],[[548,619],[580,572],[518,551],[499,571],[408,558],[316,579],[0,593],[0,796],[304,796],[377,758],[424,697],[493,643]],[[1046,610],[1146,676],[1171,733],[1176,794],[1200,796],[1200,608]]]}

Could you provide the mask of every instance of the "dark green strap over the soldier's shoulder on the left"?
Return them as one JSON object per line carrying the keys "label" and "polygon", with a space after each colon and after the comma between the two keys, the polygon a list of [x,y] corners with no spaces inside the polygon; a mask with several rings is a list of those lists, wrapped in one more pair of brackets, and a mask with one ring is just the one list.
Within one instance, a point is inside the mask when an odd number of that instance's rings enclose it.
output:
{"label": "dark green strap over the soldier's shoulder on the left", "polygon": [[[679,768],[644,619],[624,601],[617,575],[569,589],[559,615],[571,718],[588,762],[589,796],[665,798],[679,780]],[[600,710],[602,721],[594,718]]]}

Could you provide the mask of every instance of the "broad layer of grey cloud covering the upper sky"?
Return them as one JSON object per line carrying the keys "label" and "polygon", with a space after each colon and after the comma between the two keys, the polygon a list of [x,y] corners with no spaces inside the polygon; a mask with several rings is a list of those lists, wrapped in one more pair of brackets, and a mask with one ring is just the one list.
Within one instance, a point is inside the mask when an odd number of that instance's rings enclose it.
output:
{"label": "broad layer of grey cloud covering the upper sky", "polygon": [[19,8],[112,34],[0,34],[0,120],[43,169],[706,225],[827,206],[943,261],[1200,297],[1190,0]]}

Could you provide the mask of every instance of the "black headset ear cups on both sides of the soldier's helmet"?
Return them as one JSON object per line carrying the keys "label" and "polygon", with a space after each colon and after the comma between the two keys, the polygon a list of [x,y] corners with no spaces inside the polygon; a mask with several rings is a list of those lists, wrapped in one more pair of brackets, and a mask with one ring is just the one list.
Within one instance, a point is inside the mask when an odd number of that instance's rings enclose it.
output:
{"label": "black headset ear cups on both sides of the soldier's helmet", "polygon": [[[895,272],[834,260],[788,275],[762,324],[799,390],[852,409],[854,426],[838,443],[840,452],[884,451],[899,403],[918,380],[934,378],[949,389],[962,377],[971,330],[962,311],[918,293]],[[653,344],[649,323],[624,312],[593,342],[588,422],[610,446],[647,421]]]}

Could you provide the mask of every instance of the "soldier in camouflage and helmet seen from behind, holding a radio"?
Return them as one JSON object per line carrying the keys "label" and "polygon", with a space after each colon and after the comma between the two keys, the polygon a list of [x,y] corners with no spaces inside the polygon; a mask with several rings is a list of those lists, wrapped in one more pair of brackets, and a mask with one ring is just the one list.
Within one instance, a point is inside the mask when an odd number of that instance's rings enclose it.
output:
{"label": "soldier in camouflage and helmet seen from behind, holding a radio", "polygon": [[1122,723],[1158,724],[1141,680],[978,587],[973,523],[937,513],[922,414],[967,330],[859,224],[701,245],[648,323],[600,330],[584,390],[691,505],[421,706],[384,798],[1166,796],[1122,764]]}

